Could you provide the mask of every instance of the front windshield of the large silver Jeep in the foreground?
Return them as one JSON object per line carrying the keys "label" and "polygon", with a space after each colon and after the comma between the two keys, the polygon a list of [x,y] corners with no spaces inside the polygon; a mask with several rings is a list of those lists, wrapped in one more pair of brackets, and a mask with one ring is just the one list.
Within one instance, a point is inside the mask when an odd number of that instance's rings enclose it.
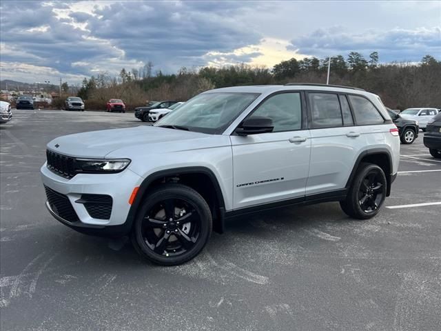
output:
{"label": "front windshield of the large silver Jeep in the foreground", "polygon": [[155,126],[185,127],[190,131],[220,134],[258,95],[234,92],[198,94]]}

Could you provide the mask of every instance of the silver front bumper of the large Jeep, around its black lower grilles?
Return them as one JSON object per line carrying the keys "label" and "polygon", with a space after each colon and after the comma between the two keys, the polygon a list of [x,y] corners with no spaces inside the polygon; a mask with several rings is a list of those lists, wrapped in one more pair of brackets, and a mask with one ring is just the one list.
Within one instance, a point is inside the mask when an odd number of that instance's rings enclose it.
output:
{"label": "silver front bumper of the large Jeep, around its black lower grilles", "polygon": [[[77,219],[63,219],[61,213],[57,213],[57,210],[46,203],[52,216],[80,232],[85,232],[85,229],[92,229],[92,232],[112,232],[123,227],[131,207],[130,195],[142,181],[139,175],[129,169],[116,174],[76,174],[72,179],[66,179],[49,170],[46,163],[41,167],[41,179],[45,187],[67,197]],[[91,217],[85,204],[81,203],[83,194],[105,194],[112,197],[110,218]]]}

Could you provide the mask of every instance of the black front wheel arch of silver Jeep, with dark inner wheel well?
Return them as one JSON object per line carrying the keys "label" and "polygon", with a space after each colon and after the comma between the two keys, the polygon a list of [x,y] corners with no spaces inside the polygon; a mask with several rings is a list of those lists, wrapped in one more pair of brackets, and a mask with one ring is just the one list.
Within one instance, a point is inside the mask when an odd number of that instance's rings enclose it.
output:
{"label": "black front wheel arch of silver Jeep, with dark inner wheel well", "polygon": [[[194,181],[194,179],[198,180]],[[210,210],[212,210],[213,230],[218,233],[223,233],[225,228],[225,202],[223,192],[220,189],[214,172],[209,168],[201,166],[159,170],[146,177],[139,186],[139,190],[127,214],[125,221],[127,227],[129,227],[130,230],[132,229],[137,213],[141,209],[141,203],[152,188],[158,187],[161,183],[176,180],[178,180],[177,182],[179,183],[194,188],[194,190],[204,197],[209,204]]]}

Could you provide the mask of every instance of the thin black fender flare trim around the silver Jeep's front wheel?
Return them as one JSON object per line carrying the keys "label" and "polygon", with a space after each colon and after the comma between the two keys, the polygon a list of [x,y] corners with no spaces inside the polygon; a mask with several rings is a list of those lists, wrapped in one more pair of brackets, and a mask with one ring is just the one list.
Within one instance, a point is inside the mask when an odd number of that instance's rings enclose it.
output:
{"label": "thin black fender flare trim around the silver Jeep's front wheel", "polygon": [[225,229],[225,203],[223,199],[223,193],[222,190],[220,190],[220,185],[218,183],[218,180],[216,178],[216,175],[206,167],[183,167],[183,168],[173,168],[173,169],[167,169],[167,170],[160,170],[158,172],[154,172],[147,176],[141,185],[139,186],[139,190],[136,194],[136,197],[134,199],[134,202],[132,203],[132,207],[130,207],[129,214],[127,214],[127,219],[125,220],[125,225],[128,229],[132,229],[132,224],[134,222],[134,219],[136,218],[136,214],[139,210],[139,206],[141,205],[145,193],[147,192],[148,188],[150,187],[150,184],[153,183],[156,179],[160,179],[162,177],[170,177],[170,176],[176,176],[179,174],[195,174],[195,173],[202,173],[209,177],[209,179],[212,181],[212,184],[214,185],[215,193],[216,193],[216,199],[218,203],[218,210],[217,216],[218,216],[218,224],[214,227],[214,230],[219,233],[223,233]]}

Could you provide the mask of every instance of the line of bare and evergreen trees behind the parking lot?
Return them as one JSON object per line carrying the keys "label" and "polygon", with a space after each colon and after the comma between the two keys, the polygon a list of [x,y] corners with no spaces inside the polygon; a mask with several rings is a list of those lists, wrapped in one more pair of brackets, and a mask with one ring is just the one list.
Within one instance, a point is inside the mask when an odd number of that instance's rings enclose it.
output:
{"label": "line of bare and evergreen trees behind the parking lot", "polygon": [[[186,101],[212,88],[227,86],[294,83],[326,83],[329,58],[289,59],[273,68],[245,63],[221,68],[181,68],[176,74],[154,72],[152,62],[142,68],[126,70],[118,77],[100,73],[84,79],[78,96],[90,109],[105,108],[111,98],[123,99],[129,109],[143,106],[147,100]],[[441,61],[431,55],[419,62],[380,63],[378,52],[365,59],[358,52],[347,57],[331,57],[329,83],[355,86],[380,95],[393,109],[416,106],[441,108]],[[68,86],[63,86],[68,90]]]}

